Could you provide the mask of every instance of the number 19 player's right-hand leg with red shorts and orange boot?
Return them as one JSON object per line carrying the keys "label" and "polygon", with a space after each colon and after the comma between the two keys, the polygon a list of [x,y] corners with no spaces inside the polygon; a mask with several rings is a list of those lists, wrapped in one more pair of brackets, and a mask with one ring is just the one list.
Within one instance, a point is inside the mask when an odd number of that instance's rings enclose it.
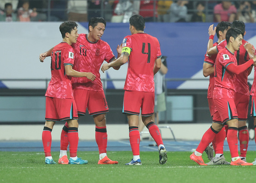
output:
{"label": "number 19 player's right-hand leg with red shorts and orange boot", "polygon": [[87,108],[95,122],[95,139],[99,149],[98,164],[117,164],[107,157],[107,100],[104,91],[88,91]]}

